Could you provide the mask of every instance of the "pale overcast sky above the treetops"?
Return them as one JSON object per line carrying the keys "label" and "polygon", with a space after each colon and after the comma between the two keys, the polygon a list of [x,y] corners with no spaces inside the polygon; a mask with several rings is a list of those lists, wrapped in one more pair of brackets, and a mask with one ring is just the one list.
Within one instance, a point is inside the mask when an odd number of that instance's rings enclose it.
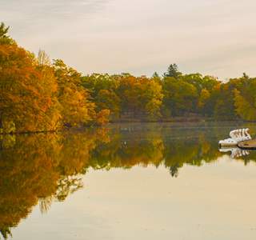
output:
{"label": "pale overcast sky above the treetops", "polygon": [[255,0],[6,0],[0,22],[84,74],[256,76]]}

